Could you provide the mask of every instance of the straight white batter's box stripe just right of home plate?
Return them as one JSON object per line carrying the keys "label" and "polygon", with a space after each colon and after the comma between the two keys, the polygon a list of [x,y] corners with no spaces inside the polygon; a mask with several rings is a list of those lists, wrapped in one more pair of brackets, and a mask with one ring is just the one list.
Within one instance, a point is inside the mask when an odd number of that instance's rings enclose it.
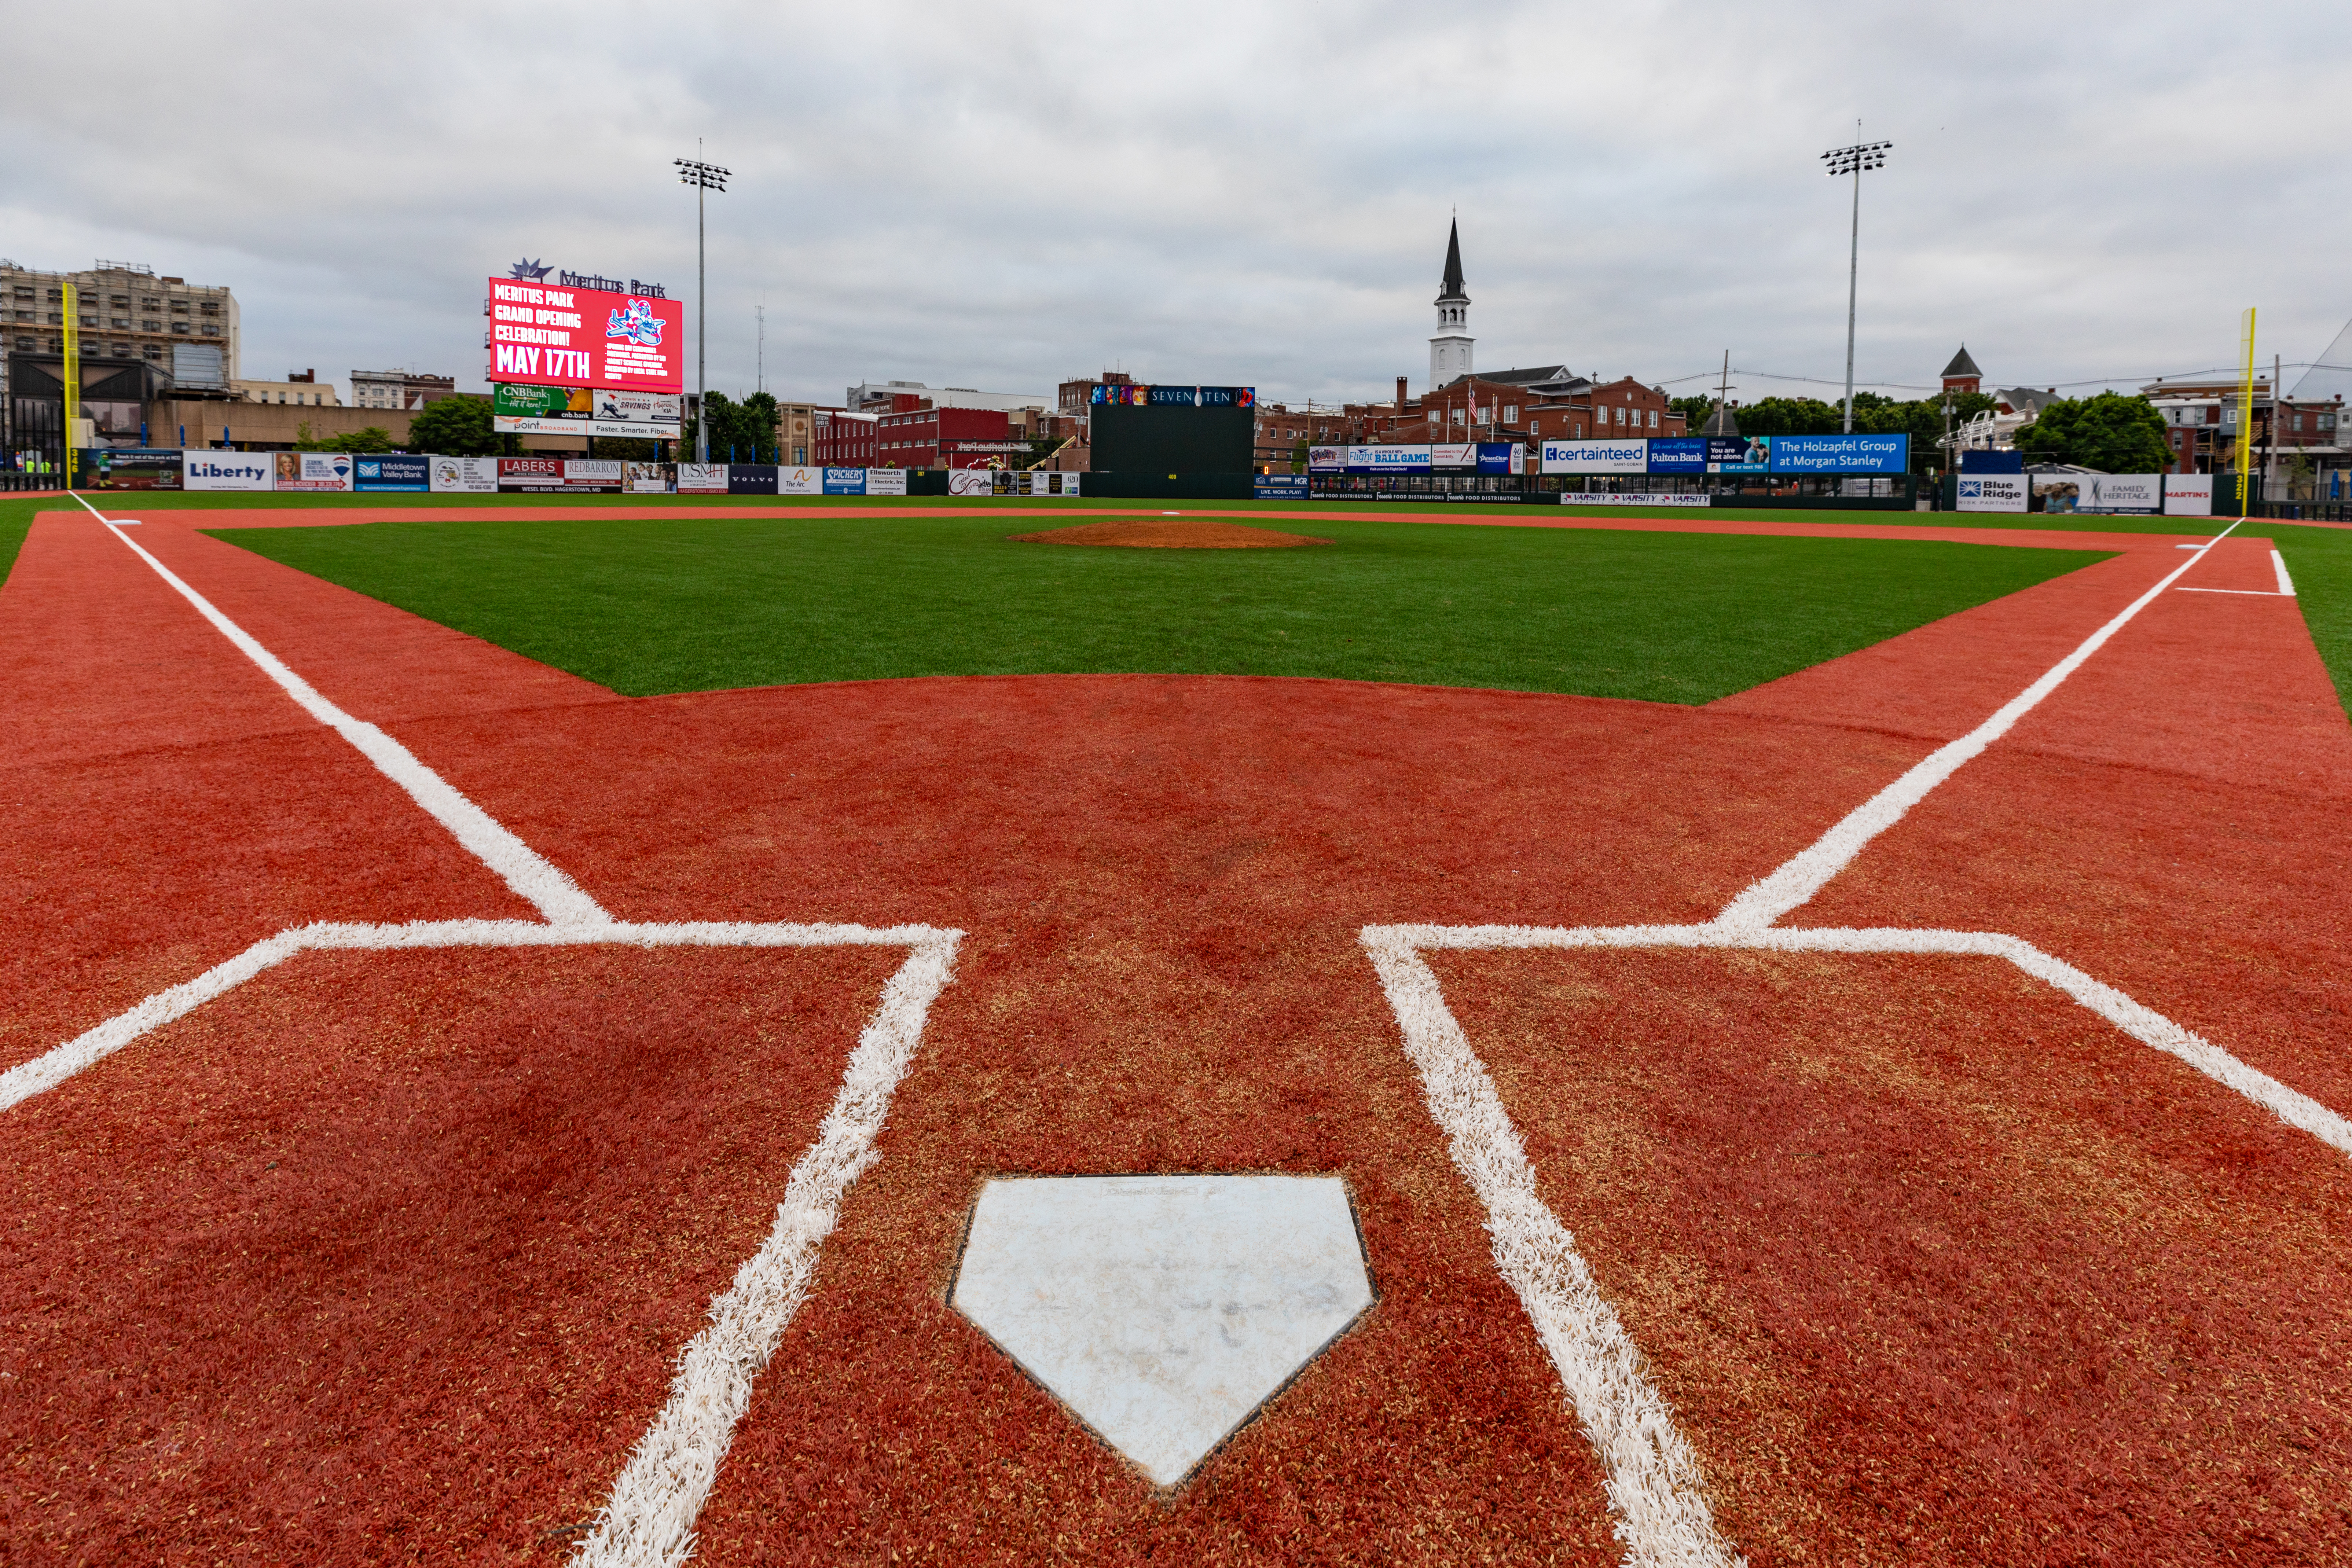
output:
{"label": "straight white batter's box stripe just right of home plate", "polygon": [[1625,1561],[1729,1568],[1740,1559],[1715,1530],[1698,1458],[1642,1375],[1642,1352],[1602,1298],[1576,1237],[1536,1194],[1536,1171],[1494,1079],[1446,1009],[1437,976],[1414,952],[1421,931],[1428,926],[1364,926],[1362,940],[1454,1166],[1486,1208],[1496,1269],[1517,1291],[1602,1460]]}

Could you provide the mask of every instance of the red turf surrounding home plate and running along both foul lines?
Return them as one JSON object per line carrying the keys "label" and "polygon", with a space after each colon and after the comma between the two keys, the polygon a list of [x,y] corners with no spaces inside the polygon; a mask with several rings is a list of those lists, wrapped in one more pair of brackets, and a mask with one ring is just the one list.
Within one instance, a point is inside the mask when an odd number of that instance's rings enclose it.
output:
{"label": "red turf surrounding home plate and running along both foul lines", "polygon": [[[623,703],[141,529],[616,914],[971,931],[703,1516],[715,1561],[1606,1561],[1597,1472],[1357,929],[1712,914],[2178,562],[2173,538],[2126,538],[1684,710],[1157,677]],[[9,644],[16,691],[54,661],[111,668],[134,607],[183,701],[235,696],[172,748],[167,693],[59,677],[21,719],[49,736],[42,766],[106,757],[172,799],[273,726],[289,745],[266,773],[223,764],[235,788],[169,820],[242,858],[226,884],[306,832],[256,802],[348,795],[350,752],[296,745],[306,719],[273,724],[266,684],[247,703],[261,677],[96,524],[45,517],[26,559],[64,576],[19,569],[0,595],[0,635],[40,628]],[[2258,545],[2199,571],[2220,585],[2239,559]],[[2331,825],[2352,733],[2314,677],[2293,602],[2169,595],[1792,924],[2013,929],[2352,1105]],[[325,910],[303,889],[141,898],[103,856],[68,858],[111,797],[47,778],[19,790],[54,799],[19,875],[118,926],[101,966],[38,903],[7,914],[21,976],[103,969],[40,1004],[31,1048],[120,1006],[141,964],[191,973],[191,933],[212,952],[315,914],[513,912],[388,785],[353,846],[294,860],[327,867],[329,903],[372,886],[379,846],[449,853],[449,875]],[[762,1182],[875,983],[840,954],[706,959],[306,957],[0,1119],[9,1262],[38,1281],[9,1293],[5,1399],[35,1436],[0,1469],[0,1530],[28,1556],[560,1554],[764,1225]],[[2006,966],[1439,969],[1752,1563],[2352,1549],[2340,1157]],[[746,1098],[746,1074],[776,1093]],[[308,1171],[292,1204],[252,1173],[278,1145]],[[1383,1293],[1174,1502],[943,1307],[981,1175],[1152,1168],[1348,1175]],[[593,1234],[567,1229],[583,1215]],[[303,1399],[325,1387],[332,1418]],[[202,1465],[158,1462],[191,1436]]]}

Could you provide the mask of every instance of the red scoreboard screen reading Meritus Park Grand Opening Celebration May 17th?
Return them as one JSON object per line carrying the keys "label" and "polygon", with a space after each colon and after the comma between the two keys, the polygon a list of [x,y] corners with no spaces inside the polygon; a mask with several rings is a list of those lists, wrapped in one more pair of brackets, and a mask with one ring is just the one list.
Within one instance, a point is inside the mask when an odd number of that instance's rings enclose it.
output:
{"label": "red scoreboard screen reading Meritus Park Grand Opening Celebration May 17th", "polygon": [[675,299],[492,277],[489,378],[684,393],[684,322]]}

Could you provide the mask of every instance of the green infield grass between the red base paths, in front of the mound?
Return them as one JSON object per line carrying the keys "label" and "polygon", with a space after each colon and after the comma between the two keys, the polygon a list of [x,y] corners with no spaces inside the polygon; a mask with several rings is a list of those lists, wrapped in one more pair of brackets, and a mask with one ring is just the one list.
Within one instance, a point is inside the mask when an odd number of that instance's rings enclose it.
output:
{"label": "green infield grass between the red base paths, in front of the mound", "polygon": [[[957,517],[223,529],[614,691],[1190,672],[1705,703],[2100,559],[1940,541],[1305,522],[1305,550],[1073,550]],[[1272,517],[1268,517],[1272,522]]]}

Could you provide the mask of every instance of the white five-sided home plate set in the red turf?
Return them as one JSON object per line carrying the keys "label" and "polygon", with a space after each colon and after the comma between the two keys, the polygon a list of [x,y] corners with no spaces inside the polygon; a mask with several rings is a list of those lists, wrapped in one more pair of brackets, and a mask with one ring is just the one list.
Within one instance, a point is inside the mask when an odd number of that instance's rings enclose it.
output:
{"label": "white five-sided home plate set in the red turf", "polygon": [[953,1305],[1174,1486],[1371,1305],[1336,1175],[981,1187]]}

